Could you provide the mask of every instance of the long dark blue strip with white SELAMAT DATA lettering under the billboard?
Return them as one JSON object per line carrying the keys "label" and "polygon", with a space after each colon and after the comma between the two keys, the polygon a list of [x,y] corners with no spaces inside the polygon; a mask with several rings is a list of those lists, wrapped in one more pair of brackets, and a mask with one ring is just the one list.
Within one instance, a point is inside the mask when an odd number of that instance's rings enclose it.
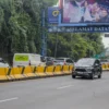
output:
{"label": "long dark blue strip with white SELAMAT DATA lettering under the billboard", "polygon": [[65,26],[49,26],[49,33],[106,33],[109,32],[109,26],[80,26],[80,27],[65,27]]}

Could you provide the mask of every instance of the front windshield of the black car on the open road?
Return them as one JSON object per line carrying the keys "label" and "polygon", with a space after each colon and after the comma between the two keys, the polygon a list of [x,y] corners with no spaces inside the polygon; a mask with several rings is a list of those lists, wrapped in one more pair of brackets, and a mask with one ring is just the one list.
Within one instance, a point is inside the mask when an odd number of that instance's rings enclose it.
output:
{"label": "front windshield of the black car on the open road", "polygon": [[75,65],[93,65],[94,61],[94,59],[81,59],[76,62]]}

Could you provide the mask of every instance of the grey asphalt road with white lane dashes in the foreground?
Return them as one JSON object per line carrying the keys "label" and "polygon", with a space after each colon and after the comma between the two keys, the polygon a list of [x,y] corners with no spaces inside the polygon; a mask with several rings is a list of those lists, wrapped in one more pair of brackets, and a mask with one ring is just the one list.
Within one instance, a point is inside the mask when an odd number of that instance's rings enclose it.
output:
{"label": "grey asphalt road with white lane dashes in the foreground", "polygon": [[0,83],[0,109],[109,109],[109,72]]}

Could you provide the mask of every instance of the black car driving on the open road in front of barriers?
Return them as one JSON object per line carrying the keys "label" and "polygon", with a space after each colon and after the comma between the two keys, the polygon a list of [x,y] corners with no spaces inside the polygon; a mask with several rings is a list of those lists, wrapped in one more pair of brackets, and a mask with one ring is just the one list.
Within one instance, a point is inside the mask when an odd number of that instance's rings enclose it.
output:
{"label": "black car driving on the open road in front of barriers", "polygon": [[94,80],[95,75],[101,77],[102,69],[99,60],[94,58],[80,59],[75,64],[75,70],[72,72],[72,77],[87,76]]}

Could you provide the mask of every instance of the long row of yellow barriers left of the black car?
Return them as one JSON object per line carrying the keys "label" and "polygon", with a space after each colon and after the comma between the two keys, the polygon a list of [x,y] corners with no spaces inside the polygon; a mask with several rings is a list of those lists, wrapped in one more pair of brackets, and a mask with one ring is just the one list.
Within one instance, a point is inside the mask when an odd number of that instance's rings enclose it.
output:
{"label": "long row of yellow barriers left of the black car", "polygon": [[0,68],[0,81],[68,75],[72,70],[73,65]]}

